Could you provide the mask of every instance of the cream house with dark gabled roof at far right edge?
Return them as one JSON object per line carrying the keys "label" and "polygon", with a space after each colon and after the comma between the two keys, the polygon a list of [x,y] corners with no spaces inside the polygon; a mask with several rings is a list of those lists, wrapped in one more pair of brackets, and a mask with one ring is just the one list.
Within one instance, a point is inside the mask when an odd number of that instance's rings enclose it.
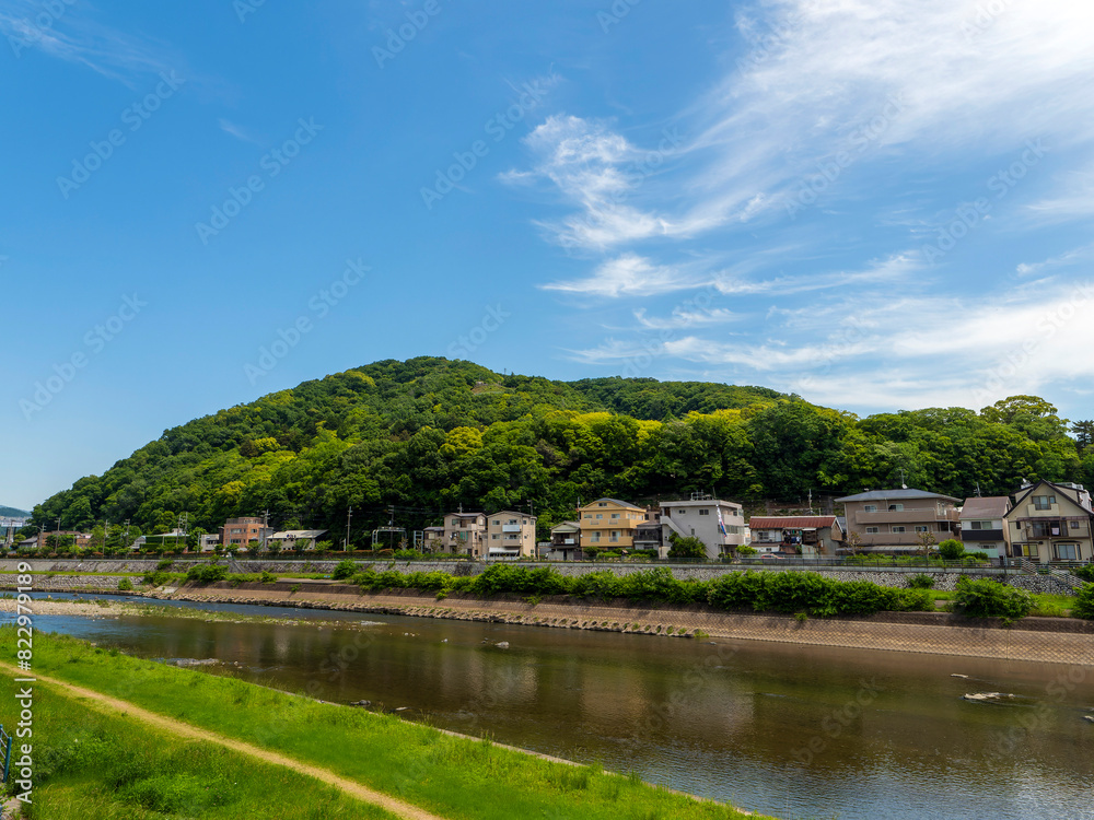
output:
{"label": "cream house with dark gabled roof at far right edge", "polygon": [[1046,564],[1050,561],[1090,561],[1094,512],[1082,484],[1038,481],[1015,493],[1004,514],[1011,555]]}

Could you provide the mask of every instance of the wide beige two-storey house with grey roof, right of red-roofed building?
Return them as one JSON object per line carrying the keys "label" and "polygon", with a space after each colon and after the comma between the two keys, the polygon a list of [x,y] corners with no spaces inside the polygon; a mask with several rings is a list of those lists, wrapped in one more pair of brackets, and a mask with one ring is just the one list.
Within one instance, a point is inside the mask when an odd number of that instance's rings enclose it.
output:
{"label": "wide beige two-storey house with grey roof, right of red-roofed building", "polygon": [[921,536],[934,543],[961,534],[954,499],[926,490],[873,490],[836,499],[845,505],[846,535],[858,535],[864,552],[918,552]]}

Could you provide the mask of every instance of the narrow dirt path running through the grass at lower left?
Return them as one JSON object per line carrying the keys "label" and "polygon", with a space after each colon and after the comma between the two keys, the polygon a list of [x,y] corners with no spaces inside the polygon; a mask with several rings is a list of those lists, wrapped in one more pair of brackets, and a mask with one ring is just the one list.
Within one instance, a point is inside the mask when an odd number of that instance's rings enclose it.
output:
{"label": "narrow dirt path running through the grass at lower left", "polygon": [[[15,667],[9,666],[4,663],[0,663],[0,670],[9,672],[12,677],[22,677],[26,675],[26,672],[21,672]],[[110,698],[102,692],[84,689],[83,687],[67,683],[66,681],[58,680],[56,678],[48,678],[45,675],[34,673],[34,677],[40,683],[47,683],[69,694],[89,700],[92,704],[96,704],[101,708],[104,708],[104,711],[113,710],[116,712],[123,712],[136,717],[138,721],[142,721],[151,726],[158,726],[165,731],[170,731],[173,735],[194,738],[195,740],[206,740],[210,743],[218,743],[243,754],[248,754],[252,758],[258,758],[259,760],[265,760],[268,763],[275,763],[277,765],[292,769],[301,774],[306,774],[309,777],[314,777],[317,781],[322,781],[323,783],[327,783],[335,788],[341,789],[346,794],[356,797],[363,803],[371,803],[373,806],[380,806],[381,808],[391,811],[393,815],[407,818],[407,820],[444,820],[444,818],[438,815],[431,815],[424,809],[419,809],[408,803],[403,803],[394,797],[388,797],[381,792],[374,792],[366,786],[362,786],[360,783],[354,783],[353,781],[340,777],[327,769],[319,769],[318,766],[309,765],[307,763],[301,763],[299,760],[293,760],[292,758],[287,758],[283,754],[278,754],[277,752],[271,752],[267,749],[252,746],[251,743],[245,743],[242,740],[234,740],[207,729],[199,729],[196,726],[179,723],[178,721],[156,714],[155,712],[149,712],[148,710],[135,706],[128,701]]]}

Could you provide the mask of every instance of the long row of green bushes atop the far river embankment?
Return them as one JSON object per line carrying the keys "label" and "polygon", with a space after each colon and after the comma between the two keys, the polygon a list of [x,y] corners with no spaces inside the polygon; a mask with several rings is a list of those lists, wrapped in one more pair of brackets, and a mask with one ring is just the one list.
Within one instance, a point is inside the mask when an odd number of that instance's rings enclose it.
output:
{"label": "long row of green bushes atop the far river embankment", "polygon": [[709,604],[728,610],[807,612],[817,618],[934,609],[933,597],[922,589],[895,589],[869,581],[835,581],[811,572],[734,572],[713,581],[677,581],[665,567],[626,575],[603,570],[571,577],[559,574],[554,567],[529,570],[496,564],[475,576],[454,576],[444,572],[403,574],[394,570],[377,573],[370,569],[356,575],[353,581],[366,590],[422,589],[534,598],[571,595],[604,600]]}

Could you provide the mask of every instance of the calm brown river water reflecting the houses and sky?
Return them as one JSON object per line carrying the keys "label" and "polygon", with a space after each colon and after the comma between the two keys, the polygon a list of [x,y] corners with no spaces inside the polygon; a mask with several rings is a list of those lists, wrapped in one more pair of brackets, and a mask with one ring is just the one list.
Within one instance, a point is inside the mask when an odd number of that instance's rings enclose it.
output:
{"label": "calm brown river water reflecting the houses and sky", "polygon": [[35,624],[141,657],[216,658],[223,664],[201,668],[372,701],[785,820],[1094,818],[1090,667],[199,608],[342,625],[60,616]]}

